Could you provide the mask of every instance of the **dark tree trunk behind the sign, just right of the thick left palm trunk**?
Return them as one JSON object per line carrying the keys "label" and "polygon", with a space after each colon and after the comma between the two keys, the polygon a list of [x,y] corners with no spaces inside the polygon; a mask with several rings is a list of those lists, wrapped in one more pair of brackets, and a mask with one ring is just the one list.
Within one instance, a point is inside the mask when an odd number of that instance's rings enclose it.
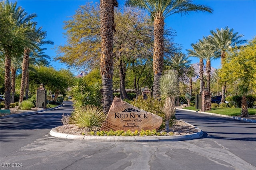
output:
{"label": "dark tree trunk behind the sign, just right of the thick left palm trunk", "polygon": [[119,64],[119,75],[120,75],[120,99],[129,99],[125,90],[125,76],[126,68],[123,67],[122,59]]}

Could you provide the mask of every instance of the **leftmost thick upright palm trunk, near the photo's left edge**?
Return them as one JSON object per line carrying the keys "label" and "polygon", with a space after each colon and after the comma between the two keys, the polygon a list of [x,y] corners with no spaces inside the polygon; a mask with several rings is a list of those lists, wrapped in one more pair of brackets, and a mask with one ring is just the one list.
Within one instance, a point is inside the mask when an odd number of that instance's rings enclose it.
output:
{"label": "leftmost thick upright palm trunk, near the photo's left edge", "polygon": [[5,55],[5,74],[4,74],[4,109],[10,109],[11,104],[11,57],[6,54]]}

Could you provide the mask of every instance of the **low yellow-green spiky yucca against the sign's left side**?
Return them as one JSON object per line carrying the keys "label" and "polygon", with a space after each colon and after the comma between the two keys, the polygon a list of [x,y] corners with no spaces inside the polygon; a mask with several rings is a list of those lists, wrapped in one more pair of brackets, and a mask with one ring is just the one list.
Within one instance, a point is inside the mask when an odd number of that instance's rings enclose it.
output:
{"label": "low yellow-green spiky yucca against the sign's left side", "polygon": [[94,105],[86,105],[71,114],[70,123],[90,131],[96,131],[100,129],[105,118],[102,109]]}

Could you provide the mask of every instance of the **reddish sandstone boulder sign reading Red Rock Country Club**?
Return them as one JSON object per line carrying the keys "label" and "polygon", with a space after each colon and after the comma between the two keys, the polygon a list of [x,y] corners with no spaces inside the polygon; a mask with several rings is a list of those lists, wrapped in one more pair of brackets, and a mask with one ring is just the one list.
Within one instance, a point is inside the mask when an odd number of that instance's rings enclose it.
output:
{"label": "reddish sandstone boulder sign reading Red Rock Country Club", "polygon": [[115,97],[100,130],[158,130],[162,117],[138,109]]}

